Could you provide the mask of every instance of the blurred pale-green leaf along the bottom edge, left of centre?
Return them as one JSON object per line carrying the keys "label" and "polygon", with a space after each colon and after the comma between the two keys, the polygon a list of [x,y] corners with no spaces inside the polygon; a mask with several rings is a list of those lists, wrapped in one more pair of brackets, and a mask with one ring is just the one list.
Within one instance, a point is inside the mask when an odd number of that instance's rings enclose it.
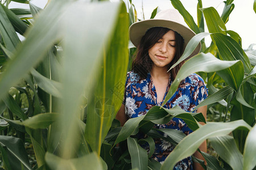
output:
{"label": "blurred pale-green leaf along the bottom edge, left of centre", "polygon": [[62,169],[92,169],[101,170],[102,164],[101,160],[97,157],[96,153],[91,153],[80,158],[75,159],[62,159],[56,155],[49,152],[46,153],[46,163],[52,170],[62,170]]}

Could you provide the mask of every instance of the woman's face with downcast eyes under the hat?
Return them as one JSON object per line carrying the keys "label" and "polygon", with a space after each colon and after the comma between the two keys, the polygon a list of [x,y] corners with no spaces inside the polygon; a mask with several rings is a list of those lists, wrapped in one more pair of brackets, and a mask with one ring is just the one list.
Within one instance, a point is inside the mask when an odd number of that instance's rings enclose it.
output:
{"label": "woman's face with downcast eyes under the hat", "polygon": [[168,64],[176,54],[176,41],[174,31],[168,31],[158,42],[148,50],[153,67],[168,69]]}

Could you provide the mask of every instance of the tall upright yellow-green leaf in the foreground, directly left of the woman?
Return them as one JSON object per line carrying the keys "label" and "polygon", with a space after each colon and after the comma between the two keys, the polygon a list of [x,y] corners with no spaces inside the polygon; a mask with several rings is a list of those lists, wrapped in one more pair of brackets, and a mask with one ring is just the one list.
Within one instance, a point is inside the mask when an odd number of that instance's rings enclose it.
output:
{"label": "tall upright yellow-green leaf in the foreground, directly left of the woman", "polygon": [[[85,137],[92,150],[98,154],[100,154],[101,144],[106,134],[108,134],[115,114],[121,107],[127,73],[126,68],[129,61],[127,50],[128,20],[125,5],[118,4],[114,6],[109,3],[110,6],[115,10],[112,10],[110,14],[99,12],[101,14],[99,15],[99,20],[102,20],[102,16],[108,16],[109,19],[106,22],[110,22],[110,16],[112,16],[112,22],[115,24],[112,24],[108,46],[103,47],[101,53],[102,61],[95,67],[94,73],[98,73],[98,75],[94,75],[92,77],[93,80],[91,79],[95,84],[91,86],[93,88],[89,90],[90,94],[87,91],[85,95],[89,99]],[[98,7],[97,9],[100,10]],[[92,22],[94,20],[95,17]],[[102,27],[106,29],[106,24],[102,23]],[[92,48],[92,46],[88,45],[88,49]]]}

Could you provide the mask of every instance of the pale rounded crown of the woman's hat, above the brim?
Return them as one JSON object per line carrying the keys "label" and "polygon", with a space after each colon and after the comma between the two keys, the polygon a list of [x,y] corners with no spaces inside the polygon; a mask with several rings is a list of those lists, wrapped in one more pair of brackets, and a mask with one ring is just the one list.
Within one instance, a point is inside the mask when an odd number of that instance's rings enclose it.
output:
{"label": "pale rounded crown of the woman's hat, above the brim", "polygon": [[172,22],[176,22],[187,27],[183,16],[176,9],[162,10],[155,15],[154,19],[170,20]]}

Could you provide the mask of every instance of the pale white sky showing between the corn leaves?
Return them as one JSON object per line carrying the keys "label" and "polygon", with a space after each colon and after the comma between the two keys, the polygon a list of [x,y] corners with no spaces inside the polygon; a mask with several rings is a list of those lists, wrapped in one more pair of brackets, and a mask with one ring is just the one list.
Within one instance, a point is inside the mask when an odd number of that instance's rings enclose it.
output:
{"label": "pale white sky showing between the corn leaves", "polygon": [[[119,0],[111,0],[111,1],[119,1]],[[129,1],[129,0],[126,0]],[[197,0],[180,0],[183,3],[185,9],[193,16],[195,22],[197,22],[196,16],[196,6]],[[222,10],[224,8],[224,0],[202,0],[203,7],[214,7],[221,15]],[[31,0],[31,3],[34,5],[44,8],[47,3],[47,0]],[[142,4],[144,11],[144,18],[149,19],[151,16],[151,12],[159,7],[160,10],[165,10],[167,8],[174,8],[171,5],[170,0],[133,0],[132,1],[137,13],[138,18],[143,19],[142,13]],[[253,10],[253,2],[254,0],[234,0],[234,10],[230,14],[229,21],[226,23],[226,29],[237,32],[242,38],[242,48],[247,49],[250,44],[256,44],[256,14]],[[28,5],[24,5],[21,3],[11,2],[9,8],[22,7],[28,8]],[[206,25],[206,24],[205,24]],[[208,32],[208,30],[205,30]],[[210,37],[206,38],[207,46],[210,44]],[[256,45],[254,46],[256,49]]]}

